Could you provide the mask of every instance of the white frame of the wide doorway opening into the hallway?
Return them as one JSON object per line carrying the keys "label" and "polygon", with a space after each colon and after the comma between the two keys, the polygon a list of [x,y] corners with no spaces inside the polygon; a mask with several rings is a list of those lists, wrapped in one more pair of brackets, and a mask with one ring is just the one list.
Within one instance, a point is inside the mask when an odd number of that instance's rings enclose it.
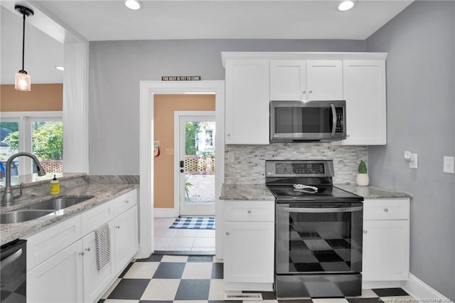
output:
{"label": "white frame of the wide doorway opening into the hallway", "polygon": [[[154,252],[154,95],[215,93],[215,149],[225,154],[225,81],[140,81],[139,84],[139,252],[137,258],[149,257]],[[216,158],[215,217],[217,218],[216,255],[222,256],[223,233],[220,204],[221,186],[225,179],[224,156]]]}

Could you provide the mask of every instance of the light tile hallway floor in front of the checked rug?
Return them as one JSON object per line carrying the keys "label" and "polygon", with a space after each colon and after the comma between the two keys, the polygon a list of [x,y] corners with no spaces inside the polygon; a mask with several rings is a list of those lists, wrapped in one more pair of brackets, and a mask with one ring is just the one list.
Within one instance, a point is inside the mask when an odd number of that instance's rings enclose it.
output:
{"label": "light tile hallway floor in front of the checked rug", "polygon": [[169,228],[176,218],[154,218],[155,250],[215,252],[215,230]]}

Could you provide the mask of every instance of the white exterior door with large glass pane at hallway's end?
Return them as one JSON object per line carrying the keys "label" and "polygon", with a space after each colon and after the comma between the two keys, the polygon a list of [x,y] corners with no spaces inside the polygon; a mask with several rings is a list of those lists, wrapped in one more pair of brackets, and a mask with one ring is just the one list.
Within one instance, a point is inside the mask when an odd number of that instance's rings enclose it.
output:
{"label": "white exterior door with large glass pane at hallway's end", "polygon": [[215,216],[215,112],[176,112],[176,199],[180,216]]}

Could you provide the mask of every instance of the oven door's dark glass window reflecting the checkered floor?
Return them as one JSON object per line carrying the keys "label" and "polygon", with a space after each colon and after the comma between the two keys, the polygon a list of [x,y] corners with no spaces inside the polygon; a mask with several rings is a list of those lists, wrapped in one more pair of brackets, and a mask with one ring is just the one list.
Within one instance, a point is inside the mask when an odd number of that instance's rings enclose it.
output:
{"label": "oven door's dark glass window reflecting the checkered floor", "polygon": [[353,216],[350,212],[290,212],[289,273],[353,272],[352,263],[361,262],[362,244],[361,230],[353,237]]}

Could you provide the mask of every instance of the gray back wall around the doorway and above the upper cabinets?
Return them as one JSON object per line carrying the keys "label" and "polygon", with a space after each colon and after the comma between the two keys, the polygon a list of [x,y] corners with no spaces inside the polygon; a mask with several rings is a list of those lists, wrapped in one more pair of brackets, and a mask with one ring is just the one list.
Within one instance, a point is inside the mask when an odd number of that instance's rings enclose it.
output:
{"label": "gray back wall around the doorway and above the upper cabinets", "polygon": [[223,80],[222,51],[365,51],[364,41],[181,40],[90,43],[90,174],[139,174],[139,81]]}

